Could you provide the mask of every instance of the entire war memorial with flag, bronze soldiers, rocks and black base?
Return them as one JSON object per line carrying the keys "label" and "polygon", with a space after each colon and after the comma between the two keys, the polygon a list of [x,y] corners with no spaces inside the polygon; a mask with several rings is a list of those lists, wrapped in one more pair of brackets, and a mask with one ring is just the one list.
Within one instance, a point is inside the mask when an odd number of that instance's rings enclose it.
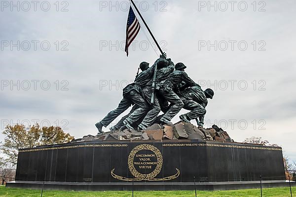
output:
{"label": "entire war memorial with flag, bronze soldiers, rocks and black base", "polygon": [[[216,125],[203,128],[207,99],[167,58],[133,0],[128,14],[126,52],[137,36],[137,11],[161,55],[142,62],[134,83],[123,89],[118,107],[96,123],[99,133],[71,143],[19,151],[15,181],[7,187],[66,190],[229,190],[285,184],[282,149],[234,142]],[[138,70],[139,71],[139,70]],[[130,113],[102,131],[132,106]],[[180,122],[171,123],[180,110]],[[160,113],[162,111],[163,113]],[[162,114],[162,115],[159,115]],[[196,120],[197,126],[190,123]]]}

